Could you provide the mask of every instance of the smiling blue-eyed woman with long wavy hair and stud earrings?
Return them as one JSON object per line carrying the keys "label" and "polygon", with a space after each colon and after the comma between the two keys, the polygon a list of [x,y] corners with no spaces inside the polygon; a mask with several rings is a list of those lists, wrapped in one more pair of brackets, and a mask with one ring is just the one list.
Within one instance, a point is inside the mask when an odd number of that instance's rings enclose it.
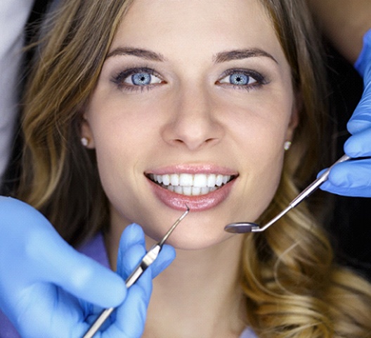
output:
{"label": "smiling blue-eyed woman with long wavy hair and stud earrings", "polygon": [[16,196],[74,246],[103,232],[111,268],[130,223],[151,244],[190,206],[142,337],[367,337],[370,284],[334,264],[306,206],[262,234],[223,230],[272,218],[313,175],[325,72],[304,4],[62,1],[57,13],[25,96]]}

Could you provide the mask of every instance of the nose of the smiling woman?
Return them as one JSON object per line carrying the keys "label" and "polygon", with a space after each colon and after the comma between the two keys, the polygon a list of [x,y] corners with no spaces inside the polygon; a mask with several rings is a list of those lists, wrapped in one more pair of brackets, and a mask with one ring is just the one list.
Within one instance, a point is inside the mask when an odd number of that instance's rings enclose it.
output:
{"label": "nose of the smiling woman", "polygon": [[220,142],[223,127],[211,95],[203,89],[183,89],[173,100],[169,120],[162,137],[172,146],[184,146],[195,151]]}

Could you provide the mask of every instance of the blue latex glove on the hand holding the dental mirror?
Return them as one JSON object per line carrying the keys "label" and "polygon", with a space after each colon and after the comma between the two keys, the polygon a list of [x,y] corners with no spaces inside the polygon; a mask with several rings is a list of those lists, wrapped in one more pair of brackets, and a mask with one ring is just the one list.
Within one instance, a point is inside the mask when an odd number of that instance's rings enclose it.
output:
{"label": "blue latex glove on the hand holding the dental mirror", "polygon": [[[351,158],[371,156],[371,30],[363,37],[363,49],[356,61],[364,89],[347,128],[352,134],[344,144]],[[321,189],[344,196],[371,197],[371,158],[339,163],[332,168]]]}

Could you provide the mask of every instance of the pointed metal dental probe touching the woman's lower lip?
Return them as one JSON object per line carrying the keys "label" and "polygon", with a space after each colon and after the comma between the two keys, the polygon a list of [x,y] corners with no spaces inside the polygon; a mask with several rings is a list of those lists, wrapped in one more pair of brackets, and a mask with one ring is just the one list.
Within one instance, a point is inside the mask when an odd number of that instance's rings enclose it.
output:
{"label": "pointed metal dental probe touching the woman's lower lip", "polygon": [[[169,238],[171,232],[174,231],[176,226],[181,223],[181,220],[186,217],[186,215],[189,213],[190,208],[187,207],[187,210],[181,215],[176,222],[171,225],[171,228],[167,231],[167,233],[162,237],[160,242],[157,242],[155,245],[153,245],[150,250],[145,254],[145,256],[142,258],[141,262],[136,265],[136,268],[134,271],[127,277],[125,281],[125,285],[127,288],[131,287],[136,280],[138,280],[139,277],[144,273],[144,271],[150,266],[157,256],[159,255],[162,246],[164,245],[165,241]],[[84,334],[83,338],[92,338],[96,332],[98,332],[99,328],[103,325],[105,320],[110,317],[110,314],[115,310],[115,308],[106,308],[102,313],[100,313],[99,317],[96,319],[96,321],[91,325],[90,329]]]}

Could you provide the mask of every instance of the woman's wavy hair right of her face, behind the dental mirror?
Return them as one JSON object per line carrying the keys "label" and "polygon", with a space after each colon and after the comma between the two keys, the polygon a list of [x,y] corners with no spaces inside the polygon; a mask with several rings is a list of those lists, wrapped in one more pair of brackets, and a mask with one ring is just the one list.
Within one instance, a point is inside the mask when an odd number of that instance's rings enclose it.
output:
{"label": "woman's wavy hair right of her face, behind the dental mirror", "polygon": [[[280,187],[259,223],[277,215],[313,175],[328,144],[326,71],[304,1],[261,0],[292,69],[302,109]],[[319,143],[318,143],[319,142]],[[327,149],[330,150],[330,149]],[[249,325],[263,338],[371,337],[371,285],[334,263],[328,236],[303,203],[261,234],[245,237],[242,289]]]}

